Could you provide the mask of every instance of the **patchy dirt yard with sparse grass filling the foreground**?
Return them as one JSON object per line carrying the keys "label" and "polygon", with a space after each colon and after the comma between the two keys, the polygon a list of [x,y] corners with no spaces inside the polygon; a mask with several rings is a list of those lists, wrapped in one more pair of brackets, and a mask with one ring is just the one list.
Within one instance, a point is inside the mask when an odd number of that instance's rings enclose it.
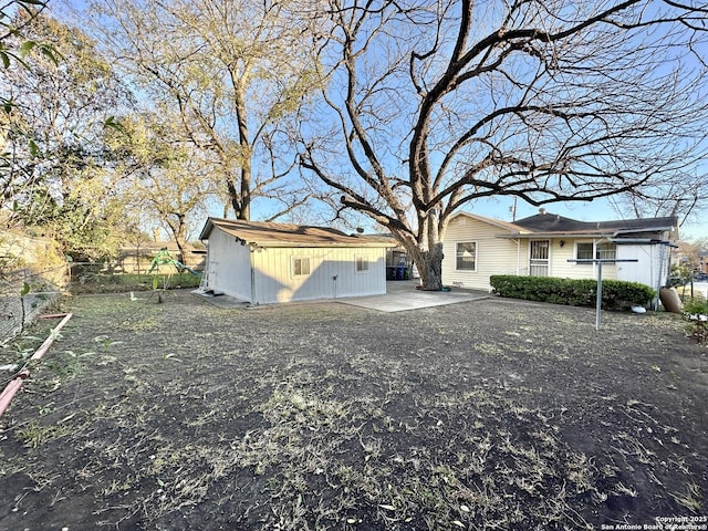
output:
{"label": "patchy dirt yard with sparse grass filling the foreground", "polygon": [[708,348],[679,316],[139,296],[64,303],[0,418],[0,529],[707,529]]}

